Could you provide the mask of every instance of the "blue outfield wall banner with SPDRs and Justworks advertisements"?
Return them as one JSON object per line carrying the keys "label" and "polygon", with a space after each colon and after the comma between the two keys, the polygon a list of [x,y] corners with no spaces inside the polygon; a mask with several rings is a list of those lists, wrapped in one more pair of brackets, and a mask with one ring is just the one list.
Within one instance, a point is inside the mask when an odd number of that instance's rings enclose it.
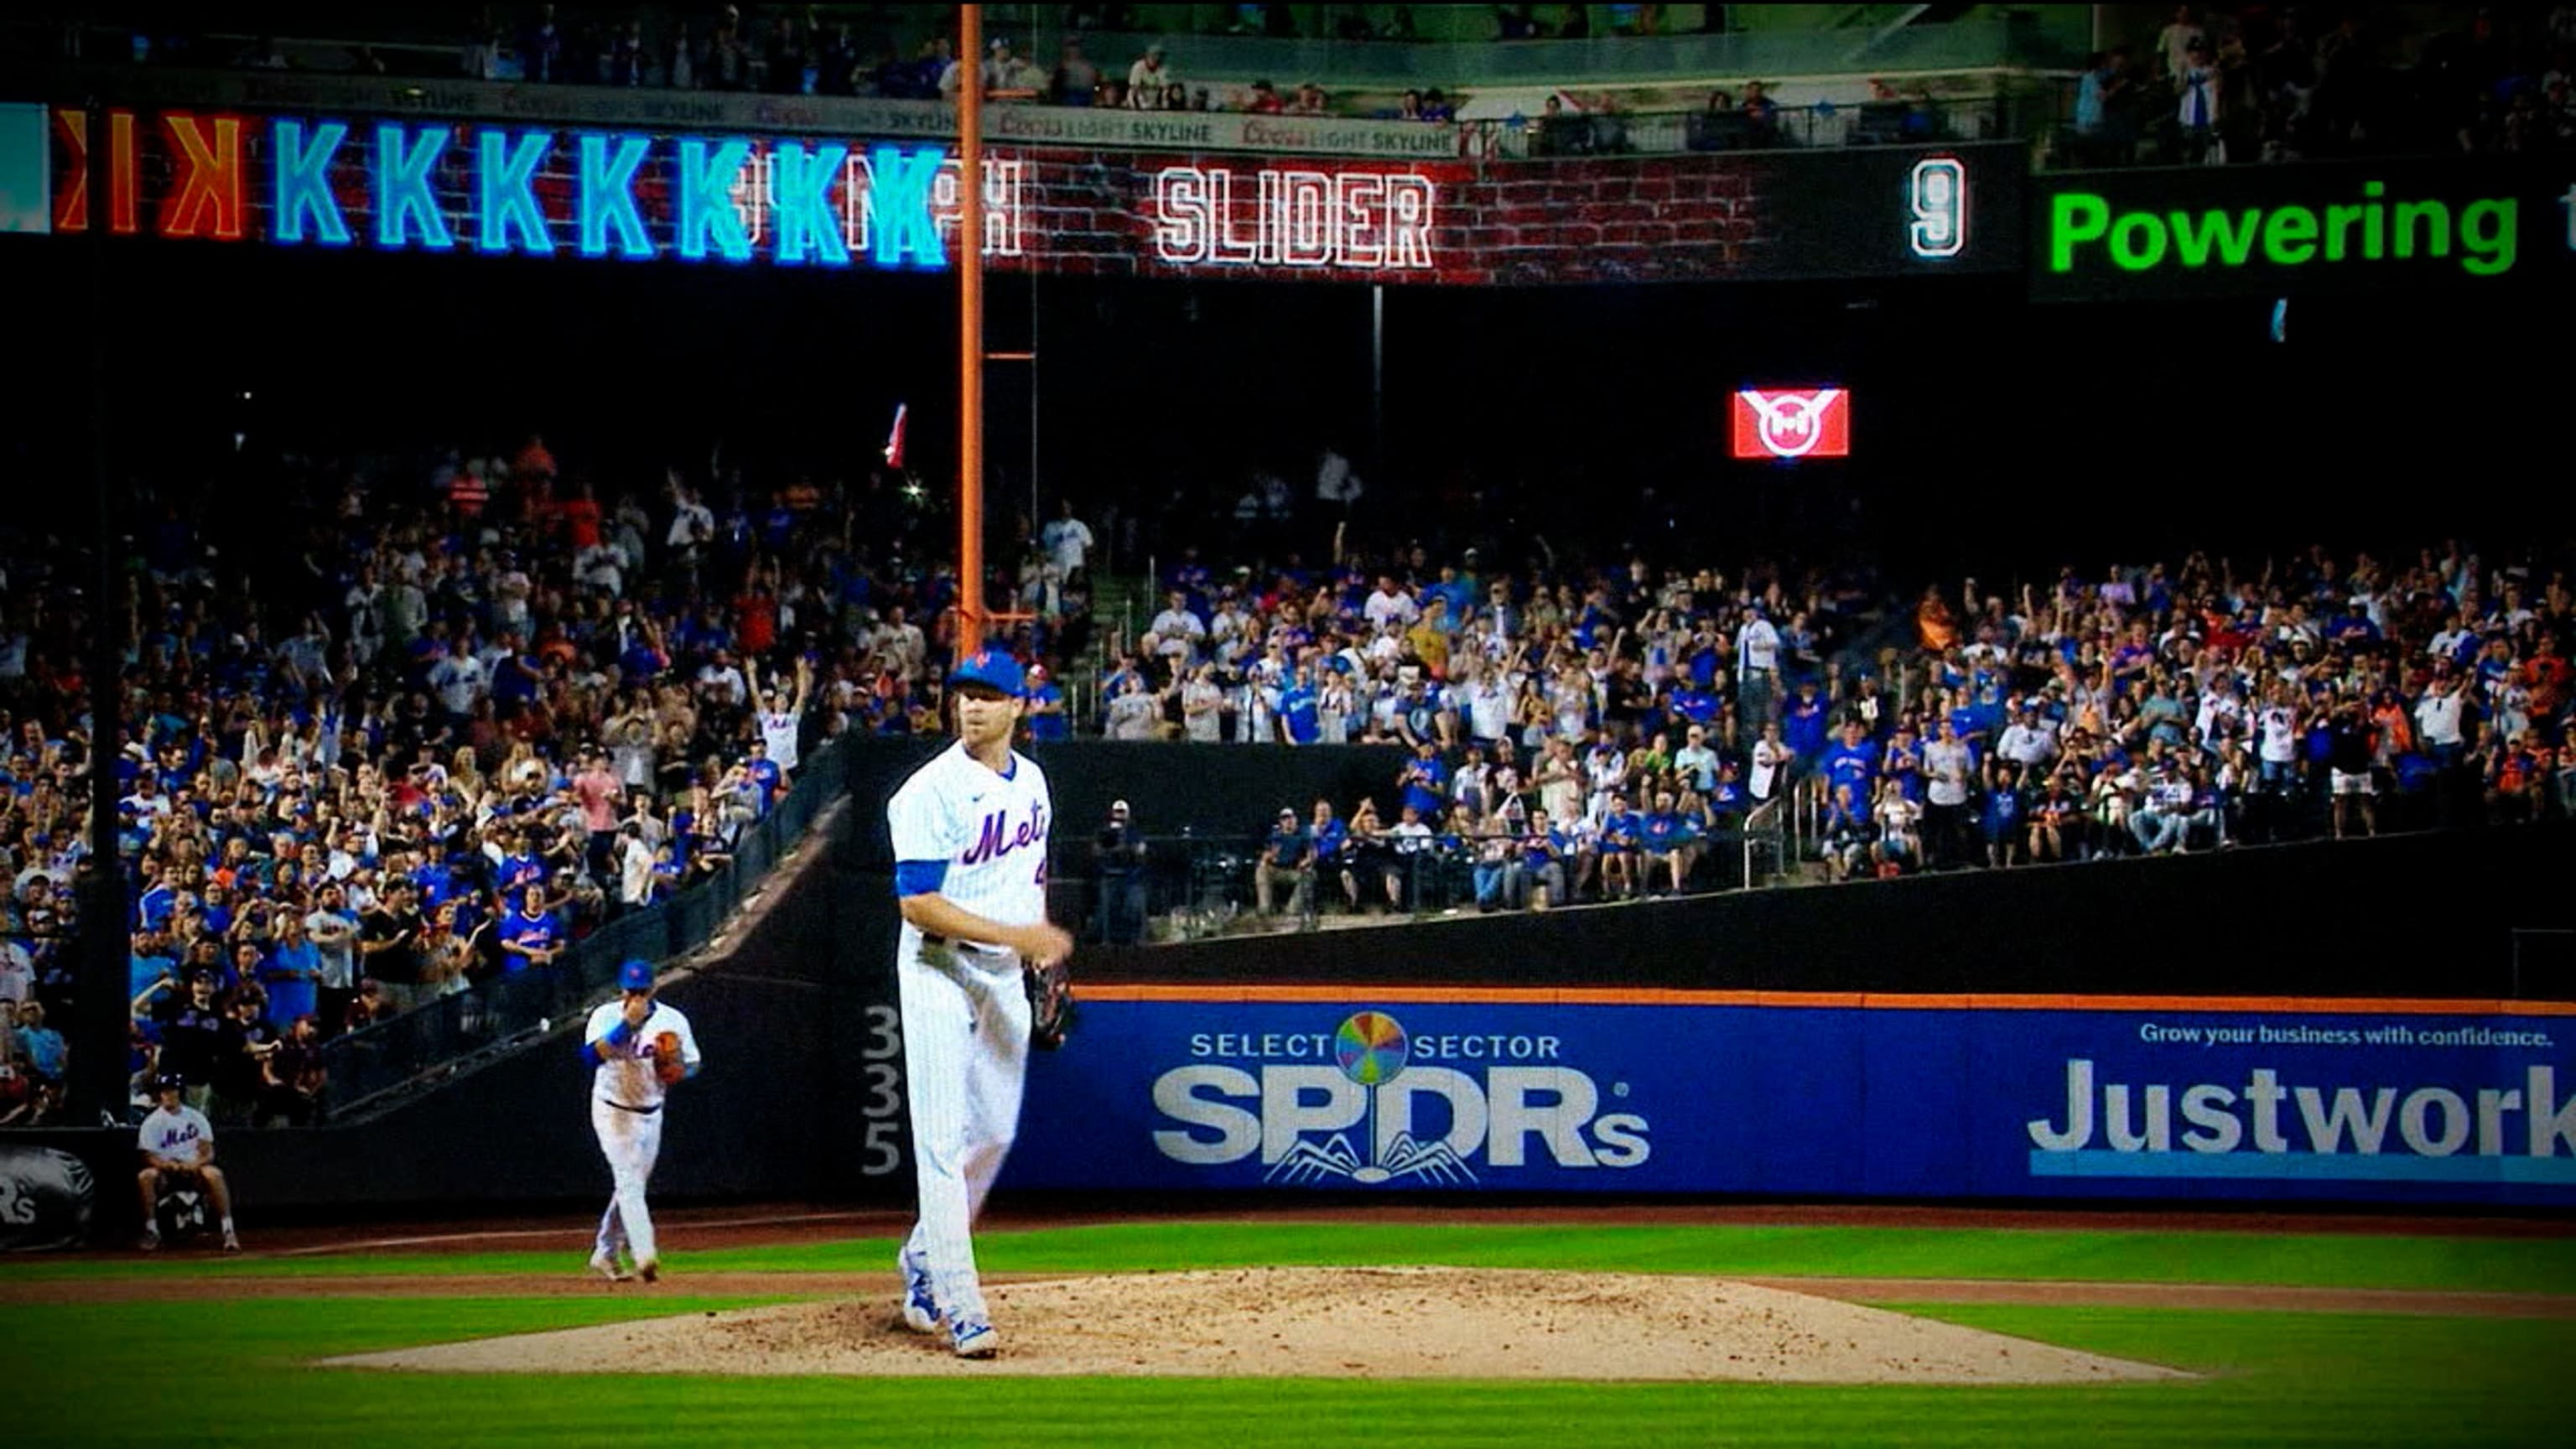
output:
{"label": "blue outfield wall banner with SPDRs and Justworks advertisements", "polygon": [[2576,1204],[2576,1024],[1090,1000],[1005,1186]]}

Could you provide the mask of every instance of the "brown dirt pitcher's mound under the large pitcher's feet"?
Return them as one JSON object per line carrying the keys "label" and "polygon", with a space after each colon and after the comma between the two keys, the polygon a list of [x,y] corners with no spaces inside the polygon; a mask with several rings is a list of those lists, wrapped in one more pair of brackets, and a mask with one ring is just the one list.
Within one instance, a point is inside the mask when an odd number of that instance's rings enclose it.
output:
{"label": "brown dirt pitcher's mound under the large pitcher's feet", "polygon": [[1002,1356],[884,1299],[652,1318],[330,1359],[448,1374],[1193,1374],[2066,1385],[2190,1377],[1723,1279],[1492,1269],[1239,1269],[987,1292]]}

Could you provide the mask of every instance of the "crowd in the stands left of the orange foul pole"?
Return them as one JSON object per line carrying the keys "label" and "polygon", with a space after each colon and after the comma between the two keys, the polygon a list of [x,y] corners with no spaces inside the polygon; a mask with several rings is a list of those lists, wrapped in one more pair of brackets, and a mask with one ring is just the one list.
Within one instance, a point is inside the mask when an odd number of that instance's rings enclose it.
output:
{"label": "crowd in the stands left of the orange foul pole", "polygon": [[[603,500],[526,438],[260,487],[255,516],[147,492],[106,603],[129,1067],[219,1122],[309,1122],[330,1036],[546,972],[719,869],[819,743],[935,730],[956,580],[884,474]],[[59,1029],[98,1008],[72,944],[93,601],[41,536],[0,562],[0,1119],[39,1122]],[[1082,593],[1066,619],[1043,572],[1020,647],[1079,647]]]}

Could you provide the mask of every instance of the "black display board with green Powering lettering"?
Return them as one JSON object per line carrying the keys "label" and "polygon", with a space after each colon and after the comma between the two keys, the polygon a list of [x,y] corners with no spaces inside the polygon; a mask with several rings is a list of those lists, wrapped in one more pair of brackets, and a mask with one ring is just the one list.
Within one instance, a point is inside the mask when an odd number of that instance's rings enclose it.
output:
{"label": "black display board with green Powering lettering", "polygon": [[2043,299],[2380,289],[2568,266],[2576,186],[2532,165],[2269,165],[2045,180]]}

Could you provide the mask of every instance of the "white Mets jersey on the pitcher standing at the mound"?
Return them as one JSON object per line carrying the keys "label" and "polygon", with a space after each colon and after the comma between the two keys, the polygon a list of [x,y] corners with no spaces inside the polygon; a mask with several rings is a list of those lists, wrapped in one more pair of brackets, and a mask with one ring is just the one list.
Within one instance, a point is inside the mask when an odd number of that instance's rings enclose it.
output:
{"label": "white Mets jersey on the pitcher standing at the mound", "polygon": [[[938,892],[1002,926],[1046,920],[1046,828],[1056,802],[1038,761],[1012,750],[994,773],[953,743],[886,802],[896,861],[943,861]],[[907,949],[912,946],[912,926]]]}

